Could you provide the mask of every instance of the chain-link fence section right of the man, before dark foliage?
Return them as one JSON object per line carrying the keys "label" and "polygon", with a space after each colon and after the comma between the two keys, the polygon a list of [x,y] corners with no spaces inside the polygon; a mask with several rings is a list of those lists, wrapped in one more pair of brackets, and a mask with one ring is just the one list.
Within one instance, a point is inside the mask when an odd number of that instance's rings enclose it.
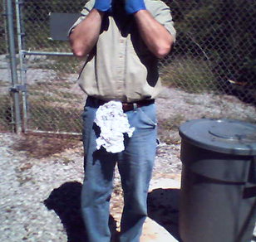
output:
{"label": "chain-link fence section right of the man, before dark foliage", "polygon": [[188,92],[256,99],[256,1],[165,1],[178,40],[161,64],[165,83]]}

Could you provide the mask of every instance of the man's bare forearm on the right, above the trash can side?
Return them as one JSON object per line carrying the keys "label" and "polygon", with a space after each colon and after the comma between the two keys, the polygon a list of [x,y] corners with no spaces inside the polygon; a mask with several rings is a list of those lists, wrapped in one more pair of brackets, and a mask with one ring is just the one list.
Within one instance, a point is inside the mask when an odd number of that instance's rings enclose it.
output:
{"label": "man's bare forearm on the right, above the trash can side", "polygon": [[163,58],[168,55],[174,41],[169,31],[157,22],[147,10],[135,12],[134,17],[140,35],[150,51],[158,58]]}

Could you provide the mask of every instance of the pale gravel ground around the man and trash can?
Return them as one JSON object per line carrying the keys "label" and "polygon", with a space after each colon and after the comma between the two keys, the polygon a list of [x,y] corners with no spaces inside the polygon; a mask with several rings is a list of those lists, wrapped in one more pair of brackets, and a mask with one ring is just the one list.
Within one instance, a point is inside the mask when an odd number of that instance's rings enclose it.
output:
{"label": "pale gravel ground around the man and trash can", "polygon": [[[187,94],[181,90],[165,90],[157,100],[158,119],[180,121],[200,118],[256,120],[256,109],[232,96]],[[180,137],[170,130],[162,136],[172,143],[160,143],[150,184],[150,198],[160,190],[180,182]],[[79,194],[83,177],[81,142],[67,145],[63,139],[0,133],[0,241],[57,242],[84,241],[84,228],[79,214]],[[50,143],[50,145],[49,145]],[[158,194],[159,197],[163,193]],[[167,196],[165,194],[165,196]],[[121,185],[116,172],[111,201],[113,241],[121,215]],[[156,196],[155,196],[156,197]],[[155,198],[154,198],[155,199]],[[151,200],[161,202],[160,200]],[[149,201],[150,202],[150,201]],[[177,212],[164,206],[165,211]],[[151,218],[157,222],[162,220]],[[162,223],[166,230],[168,221]],[[162,241],[161,241],[162,242]],[[207,241],[205,241],[207,242]]]}

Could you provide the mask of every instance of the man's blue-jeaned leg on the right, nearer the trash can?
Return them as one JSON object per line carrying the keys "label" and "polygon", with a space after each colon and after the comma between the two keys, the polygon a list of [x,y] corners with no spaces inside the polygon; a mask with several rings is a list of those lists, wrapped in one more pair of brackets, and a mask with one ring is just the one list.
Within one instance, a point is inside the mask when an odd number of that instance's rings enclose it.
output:
{"label": "man's blue-jeaned leg on the right, nearer the trash can", "polygon": [[155,104],[126,114],[135,132],[126,138],[126,150],[119,161],[125,201],[120,242],[138,242],[147,215],[146,199],[155,161]]}

